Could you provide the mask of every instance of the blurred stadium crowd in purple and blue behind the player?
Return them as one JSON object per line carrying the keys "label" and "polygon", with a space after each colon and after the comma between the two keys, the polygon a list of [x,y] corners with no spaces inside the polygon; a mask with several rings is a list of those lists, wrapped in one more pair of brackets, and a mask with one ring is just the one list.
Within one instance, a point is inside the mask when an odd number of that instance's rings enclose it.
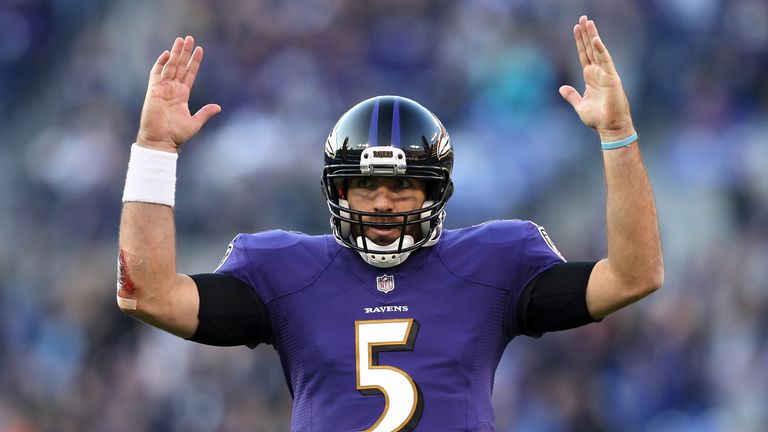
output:
{"label": "blurred stadium crowd in purple and blue behind the player", "polygon": [[185,148],[179,270],[239,231],[320,234],[322,147],[358,100],[397,93],[447,125],[447,224],[545,225],[604,253],[598,140],[571,28],[597,21],[630,97],[661,218],[666,284],[601,325],[517,339],[500,431],[768,428],[768,4],[764,0],[3,0],[0,430],[288,430],[269,347],[209,348],[114,303],[120,196],[146,77],[176,35],[206,59]]}

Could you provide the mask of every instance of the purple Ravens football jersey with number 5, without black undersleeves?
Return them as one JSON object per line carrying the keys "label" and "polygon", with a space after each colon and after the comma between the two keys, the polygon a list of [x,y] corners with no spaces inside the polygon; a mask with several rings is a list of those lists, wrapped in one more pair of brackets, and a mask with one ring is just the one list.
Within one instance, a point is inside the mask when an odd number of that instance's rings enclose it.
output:
{"label": "purple Ravens football jersey with number 5, without black undersleeves", "polygon": [[294,431],[492,431],[491,392],[516,306],[563,262],[532,222],[445,230],[377,268],[333,236],[240,234],[216,270],[267,305]]}

